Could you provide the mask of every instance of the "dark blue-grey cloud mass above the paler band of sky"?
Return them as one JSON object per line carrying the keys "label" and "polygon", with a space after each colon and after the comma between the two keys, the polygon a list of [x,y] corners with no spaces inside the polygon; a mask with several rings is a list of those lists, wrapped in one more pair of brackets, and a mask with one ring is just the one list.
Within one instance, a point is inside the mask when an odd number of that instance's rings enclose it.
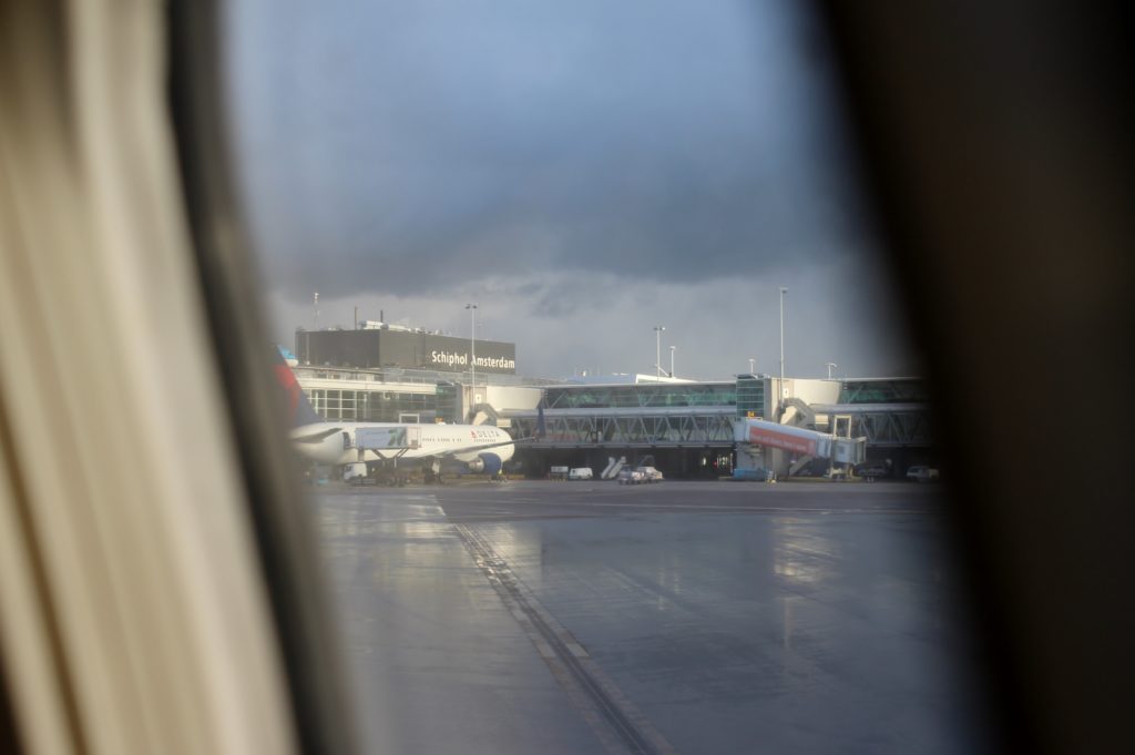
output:
{"label": "dark blue-grey cloud mass above the paler band of sky", "polygon": [[294,301],[706,280],[861,235],[793,3],[255,0],[235,20],[242,166]]}

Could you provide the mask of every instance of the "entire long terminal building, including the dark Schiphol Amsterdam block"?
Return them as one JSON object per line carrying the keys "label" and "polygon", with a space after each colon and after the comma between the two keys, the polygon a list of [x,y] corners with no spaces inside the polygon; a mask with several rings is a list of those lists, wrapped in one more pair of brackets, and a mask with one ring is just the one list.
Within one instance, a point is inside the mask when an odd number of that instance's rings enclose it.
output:
{"label": "entire long terminal building, including the dark Schiphol Amsterdam block", "polygon": [[898,475],[934,462],[926,386],[919,378],[547,380],[516,375],[511,343],[471,344],[436,332],[370,325],[299,330],[296,354],[300,385],[329,420],[488,422],[530,438],[543,403],[544,437],[518,444],[514,456],[527,475],[543,476],[553,465],[591,467],[598,473],[612,459],[634,464],[647,456],[674,478],[729,476],[739,468],[783,477],[816,473],[816,462],[823,465],[806,454],[740,439],[739,423],[754,419],[864,438],[861,458],[890,461]]}

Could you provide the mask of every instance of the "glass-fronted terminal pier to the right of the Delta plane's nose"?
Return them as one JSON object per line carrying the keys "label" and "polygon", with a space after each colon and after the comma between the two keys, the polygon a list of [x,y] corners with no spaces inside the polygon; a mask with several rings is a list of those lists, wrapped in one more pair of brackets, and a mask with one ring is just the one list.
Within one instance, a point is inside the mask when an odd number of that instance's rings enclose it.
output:
{"label": "glass-fronted terminal pier to the right of the Delta plane's nose", "polygon": [[[738,425],[748,419],[864,438],[861,461],[890,460],[900,473],[932,461],[928,403],[918,378],[785,378],[781,384],[767,375],[738,375],[670,385],[550,385],[543,396],[546,437],[518,448],[518,458],[537,468],[603,469],[612,456],[634,463],[650,455],[673,477],[720,477],[735,468],[780,476],[816,471],[805,454],[739,441]],[[535,434],[535,409],[499,414],[518,437]]]}

